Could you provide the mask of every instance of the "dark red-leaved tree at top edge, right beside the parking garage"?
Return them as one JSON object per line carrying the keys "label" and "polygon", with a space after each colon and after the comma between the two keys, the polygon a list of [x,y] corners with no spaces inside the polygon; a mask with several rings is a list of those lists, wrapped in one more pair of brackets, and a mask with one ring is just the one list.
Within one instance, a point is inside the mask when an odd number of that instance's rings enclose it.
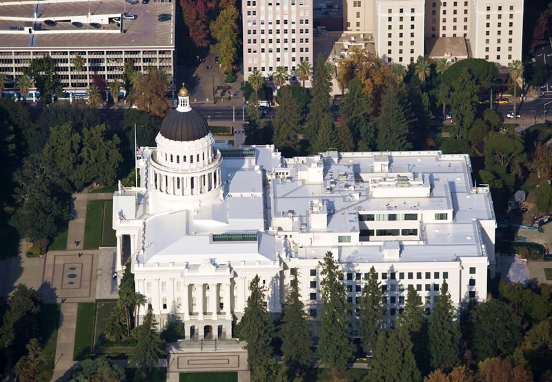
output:
{"label": "dark red-leaved tree at top edge, right beside the parking garage", "polygon": [[209,46],[209,11],[213,4],[208,0],[180,0],[180,4],[190,39],[198,48],[206,48]]}

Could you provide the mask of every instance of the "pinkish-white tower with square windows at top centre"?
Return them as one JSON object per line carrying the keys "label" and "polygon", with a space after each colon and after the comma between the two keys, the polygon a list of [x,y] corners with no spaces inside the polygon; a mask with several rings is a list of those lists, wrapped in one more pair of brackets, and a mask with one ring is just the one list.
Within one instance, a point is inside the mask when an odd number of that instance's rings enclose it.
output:
{"label": "pinkish-white tower with square windows at top centre", "polygon": [[312,0],[242,1],[244,80],[254,70],[269,77],[278,66],[290,76],[313,62]]}

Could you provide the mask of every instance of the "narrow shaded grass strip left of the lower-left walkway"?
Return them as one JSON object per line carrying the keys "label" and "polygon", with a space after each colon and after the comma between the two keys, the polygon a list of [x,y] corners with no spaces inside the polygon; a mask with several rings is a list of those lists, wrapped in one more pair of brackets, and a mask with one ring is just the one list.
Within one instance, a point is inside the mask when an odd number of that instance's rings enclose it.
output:
{"label": "narrow shaded grass strip left of the lower-left walkway", "polygon": [[60,304],[43,304],[41,307],[41,320],[39,321],[40,346],[44,352],[45,364],[39,368],[43,372],[43,381],[50,381],[54,370],[57,330],[59,326]]}

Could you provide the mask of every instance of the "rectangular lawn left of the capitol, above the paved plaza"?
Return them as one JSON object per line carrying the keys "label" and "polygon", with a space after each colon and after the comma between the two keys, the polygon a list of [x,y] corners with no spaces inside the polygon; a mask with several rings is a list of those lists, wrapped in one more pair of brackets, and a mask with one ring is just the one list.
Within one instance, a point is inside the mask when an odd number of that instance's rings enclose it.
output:
{"label": "rectangular lawn left of the capitol, above the paved plaza", "polygon": [[[84,227],[84,249],[95,250],[100,245],[117,245],[115,231],[111,228],[113,201],[90,200],[86,205],[86,223]],[[107,225],[107,226],[106,226]]]}

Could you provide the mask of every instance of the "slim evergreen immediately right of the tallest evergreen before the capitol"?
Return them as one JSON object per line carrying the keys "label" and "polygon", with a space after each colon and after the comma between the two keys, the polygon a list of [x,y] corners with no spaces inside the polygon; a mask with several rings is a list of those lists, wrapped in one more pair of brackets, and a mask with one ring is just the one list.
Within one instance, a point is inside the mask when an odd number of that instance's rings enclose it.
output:
{"label": "slim evergreen immediately right of the tallest evergreen before the capitol", "polygon": [[[352,82],[352,81],[351,81]],[[377,272],[374,267],[368,272],[360,297],[359,335],[366,351],[375,350],[377,337],[380,334],[382,322],[382,290],[377,282]]]}

